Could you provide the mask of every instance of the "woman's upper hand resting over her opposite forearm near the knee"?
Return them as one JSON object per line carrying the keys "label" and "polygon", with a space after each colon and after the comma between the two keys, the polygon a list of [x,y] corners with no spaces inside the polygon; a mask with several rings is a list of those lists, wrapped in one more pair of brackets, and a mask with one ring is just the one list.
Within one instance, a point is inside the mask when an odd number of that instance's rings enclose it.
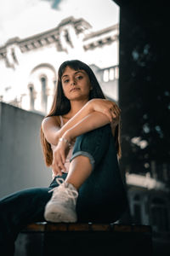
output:
{"label": "woman's upper hand resting over her opposite forearm near the knee", "polygon": [[113,119],[119,119],[121,109],[115,102],[98,98],[90,100],[88,104],[90,104],[90,108],[92,108],[93,111],[104,113],[110,122],[112,122]]}

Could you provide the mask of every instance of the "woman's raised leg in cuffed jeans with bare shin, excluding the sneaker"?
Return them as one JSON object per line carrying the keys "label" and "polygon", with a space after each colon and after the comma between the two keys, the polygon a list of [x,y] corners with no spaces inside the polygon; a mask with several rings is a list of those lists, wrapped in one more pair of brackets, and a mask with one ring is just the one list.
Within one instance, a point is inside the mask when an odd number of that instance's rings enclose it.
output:
{"label": "woman's raised leg in cuffed jeans with bare shin, excluding the sneaker", "polygon": [[127,195],[110,125],[77,137],[66,181],[79,189],[78,221],[114,222],[121,217]]}

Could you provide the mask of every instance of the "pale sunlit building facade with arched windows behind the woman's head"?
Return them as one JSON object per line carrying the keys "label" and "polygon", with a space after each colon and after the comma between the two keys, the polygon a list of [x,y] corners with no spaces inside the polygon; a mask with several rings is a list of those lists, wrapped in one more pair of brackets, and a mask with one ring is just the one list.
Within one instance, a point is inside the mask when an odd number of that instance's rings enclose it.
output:
{"label": "pale sunlit building facade with arched windows behind the woman's head", "polygon": [[78,59],[94,69],[105,96],[117,102],[118,32],[118,25],[93,32],[86,20],[69,17],[47,32],[9,39],[0,47],[1,100],[48,113],[60,64]]}

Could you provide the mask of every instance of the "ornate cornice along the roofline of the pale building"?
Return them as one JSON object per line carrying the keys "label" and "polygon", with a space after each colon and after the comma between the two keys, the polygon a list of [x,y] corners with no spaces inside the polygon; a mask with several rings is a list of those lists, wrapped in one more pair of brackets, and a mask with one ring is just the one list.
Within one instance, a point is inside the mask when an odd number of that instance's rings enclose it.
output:
{"label": "ornate cornice along the roofline of the pale building", "polygon": [[119,26],[117,24],[98,32],[91,32],[87,34],[91,25],[82,18],[75,19],[71,16],[65,20],[61,20],[58,26],[46,32],[41,32],[24,39],[10,38],[5,45],[0,47],[0,59],[6,59],[8,48],[10,48],[10,46],[13,47],[14,45],[18,46],[22,53],[32,49],[38,49],[49,44],[55,44],[58,51],[63,51],[65,49],[63,49],[60,42],[60,32],[65,30],[68,26],[72,26],[77,35],[85,32],[82,40],[82,47],[85,50],[94,49],[96,47],[103,46],[104,44],[111,44],[118,39]]}

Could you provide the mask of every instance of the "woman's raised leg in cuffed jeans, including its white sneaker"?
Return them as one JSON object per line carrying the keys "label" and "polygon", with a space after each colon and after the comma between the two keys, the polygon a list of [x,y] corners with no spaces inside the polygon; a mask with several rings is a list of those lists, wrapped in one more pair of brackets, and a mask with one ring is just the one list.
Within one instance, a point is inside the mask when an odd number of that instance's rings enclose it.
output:
{"label": "woman's raised leg in cuffed jeans, including its white sneaker", "polygon": [[45,207],[45,219],[76,222],[78,213],[79,221],[114,222],[126,206],[111,126],[77,137],[69,173],[65,183],[54,189]]}

